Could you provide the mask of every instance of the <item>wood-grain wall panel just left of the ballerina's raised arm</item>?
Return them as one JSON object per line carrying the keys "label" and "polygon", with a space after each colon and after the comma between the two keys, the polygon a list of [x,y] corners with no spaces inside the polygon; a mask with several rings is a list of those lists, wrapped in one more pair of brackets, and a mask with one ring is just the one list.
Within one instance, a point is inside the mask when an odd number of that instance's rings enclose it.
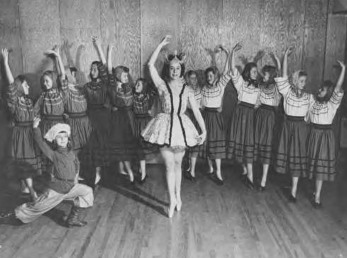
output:
{"label": "wood-grain wall panel just left of the ballerina's raised arm", "polygon": [[134,79],[141,76],[140,0],[102,0],[101,37],[105,46],[112,43],[113,66],[129,67]]}

